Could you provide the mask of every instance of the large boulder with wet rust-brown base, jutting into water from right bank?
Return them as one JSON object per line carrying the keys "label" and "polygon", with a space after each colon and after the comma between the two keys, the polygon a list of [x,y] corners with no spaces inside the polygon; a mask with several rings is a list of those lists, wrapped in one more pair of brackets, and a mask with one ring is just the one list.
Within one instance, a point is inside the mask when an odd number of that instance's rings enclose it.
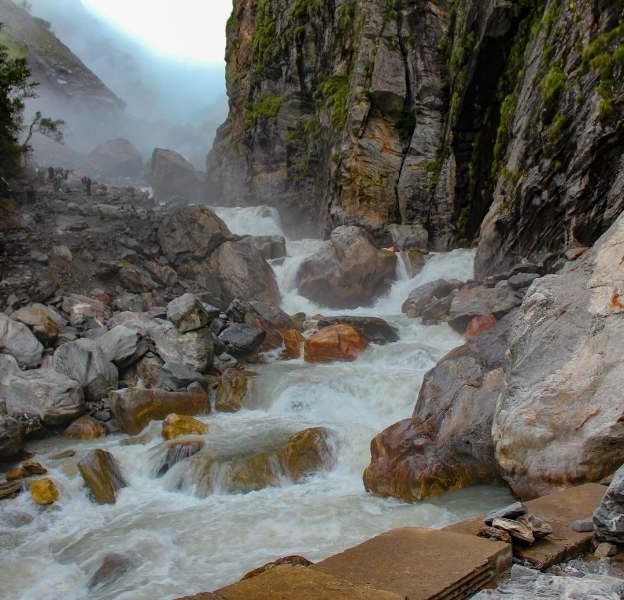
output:
{"label": "large boulder with wet rust-brown base, jutting into water from right bank", "polygon": [[497,478],[491,428],[512,319],[452,350],[425,375],[412,417],[371,443],[368,491],[415,501]]}

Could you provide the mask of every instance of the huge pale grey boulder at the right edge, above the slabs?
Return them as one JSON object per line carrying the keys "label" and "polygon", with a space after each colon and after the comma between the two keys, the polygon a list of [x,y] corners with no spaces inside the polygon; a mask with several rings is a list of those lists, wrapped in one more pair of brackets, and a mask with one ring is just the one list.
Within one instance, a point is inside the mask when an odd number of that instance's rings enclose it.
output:
{"label": "huge pale grey boulder at the right edge, above the slabs", "polygon": [[536,280],[516,320],[492,435],[521,498],[598,481],[624,462],[624,217]]}

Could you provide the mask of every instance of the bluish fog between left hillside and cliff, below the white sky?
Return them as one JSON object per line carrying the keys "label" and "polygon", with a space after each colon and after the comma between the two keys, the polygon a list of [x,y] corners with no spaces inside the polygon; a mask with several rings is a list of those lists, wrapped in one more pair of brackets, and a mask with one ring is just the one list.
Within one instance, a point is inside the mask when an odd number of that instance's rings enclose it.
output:
{"label": "bluish fog between left hillside and cliff, below the white sky", "polygon": [[36,152],[43,162],[59,157],[79,167],[80,157],[73,151],[86,154],[103,141],[124,137],[146,160],[154,147],[167,147],[196,167],[205,167],[216,129],[227,115],[223,59],[201,64],[157,53],[97,16],[81,0],[30,3],[32,14],[49,21],[54,34],[126,105],[122,114],[92,114],[87,106],[68,107],[42,85],[30,111],[39,109],[67,121],[62,150],[37,140]]}

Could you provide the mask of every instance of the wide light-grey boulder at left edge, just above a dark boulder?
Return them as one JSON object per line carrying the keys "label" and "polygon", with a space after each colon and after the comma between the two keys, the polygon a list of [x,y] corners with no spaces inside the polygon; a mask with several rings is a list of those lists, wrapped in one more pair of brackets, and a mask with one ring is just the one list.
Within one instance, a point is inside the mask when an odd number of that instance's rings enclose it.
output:
{"label": "wide light-grey boulder at left edge, just above a dark boulder", "polygon": [[37,369],[0,378],[0,398],[10,416],[36,417],[55,427],[85,411],[80,383],[54,369]]}

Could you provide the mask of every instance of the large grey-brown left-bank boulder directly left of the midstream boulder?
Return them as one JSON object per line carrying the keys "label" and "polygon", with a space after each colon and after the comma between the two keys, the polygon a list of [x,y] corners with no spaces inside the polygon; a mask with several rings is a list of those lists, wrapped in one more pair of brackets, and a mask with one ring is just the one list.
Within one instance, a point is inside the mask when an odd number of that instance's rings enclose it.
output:
{"label": "large grey-brown left-bank boulder directly left of the midstream boulder", "polygon": [[208,268],[219,278],[228,304],[236,298],[273,306],[281,303],[275,273],[249,238],[221,244],[210,256]]}

